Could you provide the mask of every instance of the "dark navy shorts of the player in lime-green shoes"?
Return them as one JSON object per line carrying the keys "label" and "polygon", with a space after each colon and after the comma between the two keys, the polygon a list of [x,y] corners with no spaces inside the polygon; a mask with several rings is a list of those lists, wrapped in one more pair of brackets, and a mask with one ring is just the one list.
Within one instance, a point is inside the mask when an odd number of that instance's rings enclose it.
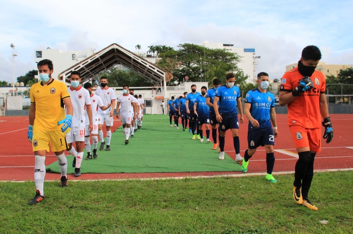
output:
{"label": "dark navy shorts of the player in lime-green shoes", "polygon": [[247,143],[249,149],[256,149],[260,145],[275,145],[272,126],[247,130]]}

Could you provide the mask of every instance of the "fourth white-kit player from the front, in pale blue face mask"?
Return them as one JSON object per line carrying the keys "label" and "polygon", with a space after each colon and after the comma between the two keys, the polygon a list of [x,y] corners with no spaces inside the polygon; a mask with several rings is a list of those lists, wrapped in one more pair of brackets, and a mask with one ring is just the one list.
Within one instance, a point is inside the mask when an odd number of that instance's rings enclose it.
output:
{"label": "fourth white-kit player from the front, in pale blue face mask", "polygon": [[125,145],[127,145],[129,143],[131,121],[136,118],[136,107],[132,105],[131,109],[131,103],[135,98],[129,94],[129,86],[124,85],[122,88],[124,93],[117,98],[116,102],[116,118],[121,119],[123,132],[125,133]]}

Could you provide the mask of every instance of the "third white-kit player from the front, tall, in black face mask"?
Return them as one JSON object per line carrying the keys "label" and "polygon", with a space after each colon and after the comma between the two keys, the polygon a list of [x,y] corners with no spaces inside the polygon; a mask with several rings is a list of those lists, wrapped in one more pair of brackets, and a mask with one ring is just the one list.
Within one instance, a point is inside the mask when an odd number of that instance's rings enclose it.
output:
{"label": "third white-kit player from the front, tall, in black face mask", "polygon": [[106,150],[110,150],[110,140],[112,138],[112,131],[110,127],[113,126],[113,115],[114,115],[114,107],[115,107],[115,92],[112,88],[108,87],[108,78],[106,76],[101,77],[101,88],[96,90],[96,95],[98,95],[104,106],[107,106],[108,103],[112,103],[107,110],[98,109],[98,136],[101,139],[101,146],[99,150],[103,150],[104,142],[102,127],[104,122],[106,123],[107,129],[107,146]]}

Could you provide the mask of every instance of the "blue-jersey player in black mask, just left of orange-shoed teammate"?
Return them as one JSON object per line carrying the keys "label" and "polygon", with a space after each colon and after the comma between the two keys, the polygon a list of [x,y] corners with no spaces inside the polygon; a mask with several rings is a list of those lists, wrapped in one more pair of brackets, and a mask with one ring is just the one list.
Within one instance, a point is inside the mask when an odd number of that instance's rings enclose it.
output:
{"label": "blue-jersey player in black mask, just left of orange-shoed teammate", "polygon": [[197,123],[199,127],[199,134],[200,134],[200,142],[203,142],[203,125],[205,124],[206,128],[206,142],[210,143],[210,117],[209,117],[209,110],[210,108],[206,104],[206,92],[207,87],[201,87],[201,95],[196,97],[194,103],[194,113],[197,115]]}

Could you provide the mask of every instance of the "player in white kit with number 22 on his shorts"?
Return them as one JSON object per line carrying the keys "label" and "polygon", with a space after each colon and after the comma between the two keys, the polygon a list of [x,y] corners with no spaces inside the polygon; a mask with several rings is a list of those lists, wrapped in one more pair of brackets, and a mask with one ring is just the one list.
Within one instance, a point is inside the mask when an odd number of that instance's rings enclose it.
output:
{"label": "player in white kit with number 22 on his shorts", "polygon": [[[74,176],[80,176],[80,166],[83,158],[83,148],[85,142],[85,113],[87,109],[89,125],[88,131],[92,131],[92,109],[88,90],[81,85],[81,74],[78,71],[73,71],[70,74],[71,86],[68,88],[73,107],[71,131],[66,134],[66,142],[68,145],[67,152],[74,158],[72,167],[75,168]],[[76,150],[72,143],[76,143]]]}

